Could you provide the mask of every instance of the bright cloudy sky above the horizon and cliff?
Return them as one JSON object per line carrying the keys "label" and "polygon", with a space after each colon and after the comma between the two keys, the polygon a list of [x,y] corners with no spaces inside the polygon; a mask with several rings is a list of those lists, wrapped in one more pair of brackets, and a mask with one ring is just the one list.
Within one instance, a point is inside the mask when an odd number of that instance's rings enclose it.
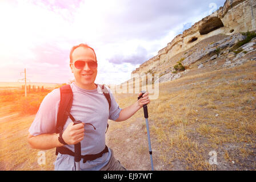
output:
{"label": "bright cloudy sky above the horizon and cliff", "polygon": [[121,84],[225,0],[0,0],[0,81],[65,83],[73,46],[98,60],[98,84]]}

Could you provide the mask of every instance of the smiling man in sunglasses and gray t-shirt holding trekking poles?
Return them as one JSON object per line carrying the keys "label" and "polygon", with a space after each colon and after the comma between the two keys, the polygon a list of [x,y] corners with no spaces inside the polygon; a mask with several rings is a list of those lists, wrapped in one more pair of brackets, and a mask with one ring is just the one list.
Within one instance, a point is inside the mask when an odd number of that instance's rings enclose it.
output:
{"label": "smiling man in sunglasses and gray t-shirt holding trekking poles", "polygon": [[[70,114],[82,123],[74,125],[68,118],[63,126],[62,136],[55,133],[60,101],[59,89],[55,89],[43,99],[30,126],[28,141],[32,148],[48,150],[65,146],[73,152],[74,144],[81,142],[81,155],[101,154],[97,159],[87,160],[85,163],[81,160],[82,170],[126,170],[114,158],[113,150],[106,147],[107,120],[125,121],[143,105],[149,104],[149,96],[146,92],[133,105],[121,109],[115,102],[111,90],[107,88],[111,97],[109,108],[103,93],[98,92],[101,89],[94,83],[97,65],[97,57],[93,48],[80,44],[71,49],[70,69],[74,73],[75,81],[70,84],[73,91]],[[90,123],[93,127],[85,123]],[[55,170],[75,170],[74,156],[58,153],[54,166]]]}

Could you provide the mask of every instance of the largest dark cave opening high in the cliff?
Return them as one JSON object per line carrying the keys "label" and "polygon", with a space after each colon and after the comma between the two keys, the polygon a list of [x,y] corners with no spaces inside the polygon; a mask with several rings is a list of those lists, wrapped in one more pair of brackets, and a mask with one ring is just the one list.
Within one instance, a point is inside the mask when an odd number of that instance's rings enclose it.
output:
{"label": "largest dark cave opening high in the cliff", "polygon": [[199,33],[200,35],[205,35],[221,27],[224,27],[222,20],[218,17],[213,17],[201,25],[199,28]]}

